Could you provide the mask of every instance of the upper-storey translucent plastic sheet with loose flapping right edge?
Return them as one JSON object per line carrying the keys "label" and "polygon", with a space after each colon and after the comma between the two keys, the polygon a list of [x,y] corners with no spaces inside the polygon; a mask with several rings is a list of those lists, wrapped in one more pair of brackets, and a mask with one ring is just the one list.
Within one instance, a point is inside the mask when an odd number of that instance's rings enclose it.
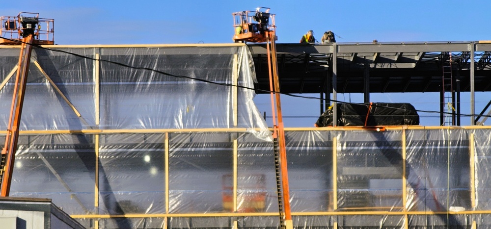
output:
{"label": "upper-storey translucent plastic sheet with loose flapping right edge", "polygon": [[[266,122],[252,101],[253,90],[237,89],[236,118],[233,108],[236,92],[232,86],[186,78],[221,84],[237,81],[240,86],[253,88],[256,77],[246,46],[56,49],[89,58],[100,53],[101,60],[155,69],[173,76],[100,61],[100,89],[96,92],[95,60],[34,48],[31,61],[39,63],[81,117],[32,63],[22,130],[229,128],[237,122],[237,127],[251,131],[260,128],[262,133],[256,133],[267,137]],[[18,52],[18,48],[0,49],[1,80],[16,66]],[[0,127],[6,127],[14,80],[15,76],[11,77],[0,90]],[[96,107],[97,93],[99,107]],[[100,112],[99,125],[96,125],[96,110]]]}

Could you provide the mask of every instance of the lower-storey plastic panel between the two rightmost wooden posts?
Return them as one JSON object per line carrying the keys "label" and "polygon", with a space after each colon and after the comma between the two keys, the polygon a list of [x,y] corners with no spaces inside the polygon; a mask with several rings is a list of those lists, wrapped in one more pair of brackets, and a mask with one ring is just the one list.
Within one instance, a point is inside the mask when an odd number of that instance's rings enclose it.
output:
{"label": "lower-storey plastic panel between the two rightmost wooden posts", "polygon": [[433,129],[406,134],[408,210],[471,210],[468,132]]}

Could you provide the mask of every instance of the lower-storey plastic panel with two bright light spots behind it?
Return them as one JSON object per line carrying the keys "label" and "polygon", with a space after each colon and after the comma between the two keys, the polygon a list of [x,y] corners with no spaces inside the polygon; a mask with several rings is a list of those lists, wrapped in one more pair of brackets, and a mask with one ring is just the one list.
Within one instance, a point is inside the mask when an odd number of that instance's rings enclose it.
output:
{"label": "lower-storey plastic panel with two bright light spots behind it", "polygon": [[165,135],[101,134],[99,213],[165,211]]}

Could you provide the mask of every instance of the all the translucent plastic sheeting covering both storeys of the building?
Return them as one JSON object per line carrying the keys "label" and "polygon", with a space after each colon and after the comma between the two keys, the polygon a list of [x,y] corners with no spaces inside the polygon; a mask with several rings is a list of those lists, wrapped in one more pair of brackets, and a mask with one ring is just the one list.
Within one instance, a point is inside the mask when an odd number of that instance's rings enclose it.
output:
{"label": "all the translucent plastic sheeting covering both storeys of the building", "polygon": [[[255,78],[246,46],[60,49],[219,83]],[[17,51],[0,49],[2,80]],[[0,89],[3,130],[11,90]],[[21,128],[36,132],[21,133],[11,196],[51,198],[89,228],[278,228],[271,133],[254,92],[235,95],[34,49]],[[408,128],[287,130],[294,227],[489,228],[491,129]]]}

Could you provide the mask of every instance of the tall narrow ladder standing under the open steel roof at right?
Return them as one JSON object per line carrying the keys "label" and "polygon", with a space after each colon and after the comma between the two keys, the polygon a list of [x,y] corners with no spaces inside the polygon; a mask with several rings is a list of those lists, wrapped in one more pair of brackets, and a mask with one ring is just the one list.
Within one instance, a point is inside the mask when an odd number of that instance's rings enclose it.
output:
{"label": "tall narrow ladder standing under the open steel roof at right", "polygon": [[[443,123],[441,124],[442,126],[453,126],[455,125],[455,120],[454,120],[454,115],[455,113],[455,106],[454,106],[454,98],[453,98],[453,93],[454,93],[454,88],[453,88],[453,76],[452,76],[452,52],[447,52],[446,56],[448,56],[448,61],[443,60],[442,62],[442,78],[441,78],[441,85],[442,85],[442,94],[443,94],[443,101],[442,101],[442,106],[443,109],[442,111],[446,112],[443,114]],[[450,114],[452,113],[452,114]]]}

